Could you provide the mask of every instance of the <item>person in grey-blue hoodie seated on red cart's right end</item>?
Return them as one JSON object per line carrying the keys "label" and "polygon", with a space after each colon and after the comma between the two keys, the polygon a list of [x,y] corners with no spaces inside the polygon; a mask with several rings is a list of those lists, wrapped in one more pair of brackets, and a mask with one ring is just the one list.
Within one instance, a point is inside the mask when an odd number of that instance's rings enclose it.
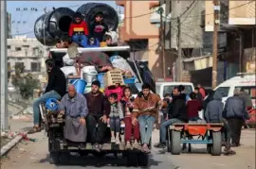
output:
{"label": "person in grey-blue hoodie seated on red cart's right end", "polygon": [[222,130],[223,141],[225,142],[225,155],[233,155],[235,152],[230,149],[231,132],[227,121],[223,118],[222,94],[215,92],[212,100],[207,105],[205,111],[205,118],[207,123],[223,123],[224,127]]}

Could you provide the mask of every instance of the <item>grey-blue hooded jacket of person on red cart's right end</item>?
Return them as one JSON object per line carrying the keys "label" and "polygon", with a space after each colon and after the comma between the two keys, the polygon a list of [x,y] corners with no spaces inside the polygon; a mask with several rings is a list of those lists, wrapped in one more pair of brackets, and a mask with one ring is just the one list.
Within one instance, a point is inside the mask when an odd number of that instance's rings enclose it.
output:
{"label": "grey-blue hooded jacket of person on red cart's right end", "polygon": [[207,109],[205,111],[205,118],[208,123],[221,123],[223,120],[224,104],[222,103],[222,94],[215,92],[213,94],[213,99],[208,103]]}

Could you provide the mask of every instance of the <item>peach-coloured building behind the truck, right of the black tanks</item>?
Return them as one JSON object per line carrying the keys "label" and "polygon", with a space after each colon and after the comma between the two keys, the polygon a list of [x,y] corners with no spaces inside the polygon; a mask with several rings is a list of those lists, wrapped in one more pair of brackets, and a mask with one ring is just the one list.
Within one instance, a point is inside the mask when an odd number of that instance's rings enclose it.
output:
{"label": "peach-coloured building behind the truck, right of the black tanks", "polygon": [[[155,79],[162,78],[163,62],[159,57],[159,23],[151,18],[159,7],[158,1],[116,1],[117,5],[124,8],[123,24],[120,26],[121,41],[128,42],[132,48],[131,56],[136,60],[148,60]],[[171,62],[166,59],[165,67],[170,67]],[[169,64],[170,63],[170,64]],[[166,69],[167,71],[167,69]]]}

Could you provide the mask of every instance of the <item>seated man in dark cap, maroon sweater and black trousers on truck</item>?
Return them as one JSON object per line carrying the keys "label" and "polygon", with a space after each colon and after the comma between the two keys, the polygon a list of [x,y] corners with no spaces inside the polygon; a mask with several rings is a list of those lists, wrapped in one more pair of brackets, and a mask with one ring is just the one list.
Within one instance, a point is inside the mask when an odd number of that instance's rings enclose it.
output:
{"label": "seated man in dark cap, maroon sweater and black trousers on truck", "polygon": [[[110,113],[110,104],[107,98],[100,92],[101,82],[92,82],[92,91],[85,93],[89,114],[86,118],[88,135],[91,138],[93,148],[100,152],[102,141],[107,127],[107,119]],[[98,124],[98,127],[96,127]]]}

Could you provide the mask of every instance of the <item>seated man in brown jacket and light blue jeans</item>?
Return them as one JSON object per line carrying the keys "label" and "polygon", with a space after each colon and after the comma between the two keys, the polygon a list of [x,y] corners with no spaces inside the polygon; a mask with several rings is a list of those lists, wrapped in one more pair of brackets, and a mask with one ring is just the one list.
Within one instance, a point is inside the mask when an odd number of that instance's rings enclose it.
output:
{"label": "seated man in brown jacket and light blue jeans", "polygon": [[158,121],[158,106],[161,101],[157,94],[150,93],[150,89],[149,84],[142,85],[142,95],[136,98],[132,114],[132,124],[139,124],[141,150],[145,153],[150,153],[149,144],[155,121]]}

